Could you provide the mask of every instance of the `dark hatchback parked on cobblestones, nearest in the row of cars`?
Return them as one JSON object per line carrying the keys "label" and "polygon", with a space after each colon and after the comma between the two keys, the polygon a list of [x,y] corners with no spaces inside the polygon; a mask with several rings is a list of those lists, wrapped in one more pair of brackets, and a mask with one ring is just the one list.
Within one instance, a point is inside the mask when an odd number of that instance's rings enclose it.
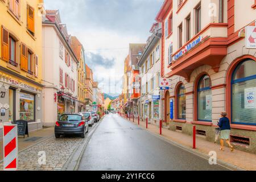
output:
{"label": "dark hatchback parked on cobblestones, nearest in the row of cars", "polygon": [[82,114],[63,114],[55,125],[55,137],[60,135],[77,134],[85,138],[88,133],[88,120]]}

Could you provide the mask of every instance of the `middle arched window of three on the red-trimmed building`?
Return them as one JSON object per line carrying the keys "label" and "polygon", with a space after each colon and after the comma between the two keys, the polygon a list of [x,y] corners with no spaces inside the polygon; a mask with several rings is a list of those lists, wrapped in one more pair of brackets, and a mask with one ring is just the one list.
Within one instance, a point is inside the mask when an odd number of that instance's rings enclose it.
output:
{"label": "middle arched window of three on the red-trimmed building", "polygon": [[212,121],[212,83],[208,75],[201,77],[197,89],[197,118],[199,121]]}

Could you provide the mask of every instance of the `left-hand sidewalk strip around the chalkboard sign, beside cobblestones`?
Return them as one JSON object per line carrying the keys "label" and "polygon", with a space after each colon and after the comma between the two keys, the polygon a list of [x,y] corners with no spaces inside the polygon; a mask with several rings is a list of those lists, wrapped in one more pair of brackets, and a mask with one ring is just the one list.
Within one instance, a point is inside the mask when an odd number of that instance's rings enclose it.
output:
{"label": "left-hand sidewalk strip around the chalkboard sign, beside cobblestones", "polygon": [[[42,130],[31,131],[29,137],[18,137],[18,151],[21,152],[36,143],[54,136],[54,127],[48,127]],[[0,140],[0,162],[3,159],[3,140]]]}

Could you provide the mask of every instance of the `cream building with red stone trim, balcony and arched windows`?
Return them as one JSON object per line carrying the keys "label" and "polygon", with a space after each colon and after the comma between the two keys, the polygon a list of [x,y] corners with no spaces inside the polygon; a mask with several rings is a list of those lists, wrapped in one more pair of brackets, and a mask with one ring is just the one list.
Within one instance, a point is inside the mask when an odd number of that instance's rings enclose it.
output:
{"label": "cream building with red stone trim, balcony and arched windows", "polygon": [[245,37],[256,28],[255,6],[254,0],[164,1],[156,20],[163,27],[161,76],[172,80],[164,93],[171,130],[192,135],[195,125],[197,135],[213,142],[225,110],[231,142],[256,151],[256,49],[246,46],[253,31]]}

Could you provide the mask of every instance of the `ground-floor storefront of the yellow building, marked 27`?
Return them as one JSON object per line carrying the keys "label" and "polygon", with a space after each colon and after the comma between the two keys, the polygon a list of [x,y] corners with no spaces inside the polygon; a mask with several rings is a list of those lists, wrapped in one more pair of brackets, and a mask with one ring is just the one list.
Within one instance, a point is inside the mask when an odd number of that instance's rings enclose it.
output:
{"label": "ground-floor storefront of the yellow building, marked 27", "polygon": [[28,121],[28,130],[42,129],[43,85],[0,72],[0,123]]}

